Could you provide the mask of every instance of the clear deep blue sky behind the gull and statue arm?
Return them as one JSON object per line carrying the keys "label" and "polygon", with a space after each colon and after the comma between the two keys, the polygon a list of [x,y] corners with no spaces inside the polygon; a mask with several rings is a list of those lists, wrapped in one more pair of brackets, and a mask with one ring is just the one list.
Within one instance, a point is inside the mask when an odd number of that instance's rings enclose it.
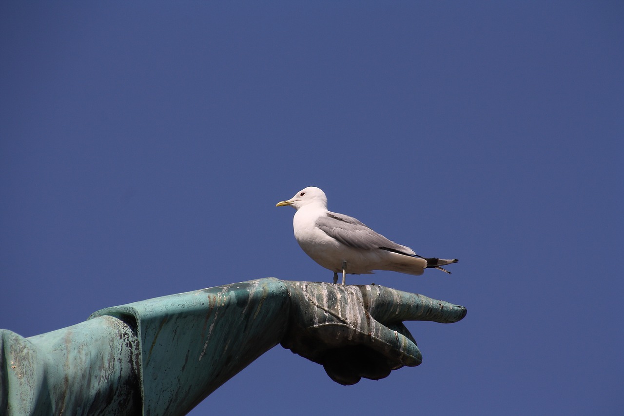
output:
{"label": "clear deep blue sky behind the gull and statue arm", "polygon": [[288,207],[318,186],[452,275],[416,368],[351,387],[275,347],[193,415],[624,408],[624,6],[0,3],[0,327],[278,277],[331,281]]}

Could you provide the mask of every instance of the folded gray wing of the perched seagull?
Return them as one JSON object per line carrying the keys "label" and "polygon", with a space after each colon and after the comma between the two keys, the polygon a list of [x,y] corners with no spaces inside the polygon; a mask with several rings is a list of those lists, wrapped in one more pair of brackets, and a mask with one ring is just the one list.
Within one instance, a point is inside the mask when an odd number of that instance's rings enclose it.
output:
{"label": "folded gray wing of the perched seagull", "polygon": [[329,237],[354,249],[392,249],[404,252],[405,247],[366,227],[359,220],[349,215],[328,212],[327,217],[319,217],[316,226]]}

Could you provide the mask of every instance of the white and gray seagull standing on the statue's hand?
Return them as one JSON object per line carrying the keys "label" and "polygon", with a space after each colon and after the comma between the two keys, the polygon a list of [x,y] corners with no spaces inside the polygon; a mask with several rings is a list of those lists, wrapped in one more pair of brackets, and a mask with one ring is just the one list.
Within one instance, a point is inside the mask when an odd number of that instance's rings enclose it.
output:
{"label": "white and gray seagull standing on the statue's hand", "polygon": [[435,268],[451,274],[443,265],[457,263],[457,259],[422,257],[405,245],[396,244],[374,232],[361,221],[327,210],[327,197],[321,189],[310,186],[297,192],[276,207],[291,206],[297,210],[293,218],[295,239],[315,262],[338,273],[372,274],[373,270],[390,270],[421,275],[425,269]]}

